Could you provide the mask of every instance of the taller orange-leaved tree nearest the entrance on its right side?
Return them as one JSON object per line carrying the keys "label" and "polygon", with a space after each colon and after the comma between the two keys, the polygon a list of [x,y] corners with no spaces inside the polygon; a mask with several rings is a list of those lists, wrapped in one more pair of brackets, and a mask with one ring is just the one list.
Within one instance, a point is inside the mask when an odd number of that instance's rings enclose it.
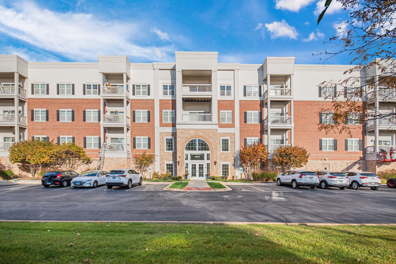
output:
{"label": "taller orange-leaved tree nearest the entrance on its right side", "polygon": [[259,142],[247,144],[239,150],[240,165],[244,168],[245,178],[252,180],[252,171],[259,169],[261,162],[265,162],[267,158],[267,148]]}

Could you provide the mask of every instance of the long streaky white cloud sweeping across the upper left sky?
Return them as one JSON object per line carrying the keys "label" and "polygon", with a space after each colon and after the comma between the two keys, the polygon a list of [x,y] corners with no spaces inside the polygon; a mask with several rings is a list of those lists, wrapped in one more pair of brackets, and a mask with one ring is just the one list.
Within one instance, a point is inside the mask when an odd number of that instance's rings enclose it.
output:
{"label": "long streaky white cloud sweeping across the upper left sky", "polygon": [[98,54],[122,54],[164,61],[169,59],[166,52],[173,49],[134,44],[131,38],[140,32],[138,26],[109,17],[101,21],[92,14],[58,13],[29,2],[15,8],[0,4],[0,14],[0,32],[73,60],[96,61]]}

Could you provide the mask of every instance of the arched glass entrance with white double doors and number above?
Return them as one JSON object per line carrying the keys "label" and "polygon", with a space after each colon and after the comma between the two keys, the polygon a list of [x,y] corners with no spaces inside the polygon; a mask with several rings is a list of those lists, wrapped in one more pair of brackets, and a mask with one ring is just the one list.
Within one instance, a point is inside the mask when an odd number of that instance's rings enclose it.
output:
{"label": "arched glass entrance with white double doors and number above", "polygon": [[195,138],[187,142],[184,148],[184,166],[189,179],[206,179],[210,172],[210,147],[203,139]]}

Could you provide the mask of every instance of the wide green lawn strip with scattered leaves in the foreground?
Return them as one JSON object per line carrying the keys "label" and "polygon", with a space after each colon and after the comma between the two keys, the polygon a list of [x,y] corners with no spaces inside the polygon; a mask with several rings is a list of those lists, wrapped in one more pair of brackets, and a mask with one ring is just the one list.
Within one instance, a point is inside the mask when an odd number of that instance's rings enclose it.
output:
{"label": "wide green lawn strip with scattered leaves in the foreground", "polygon": [[396,226],[0,222],[0,263],[394,264],[395,233]]}

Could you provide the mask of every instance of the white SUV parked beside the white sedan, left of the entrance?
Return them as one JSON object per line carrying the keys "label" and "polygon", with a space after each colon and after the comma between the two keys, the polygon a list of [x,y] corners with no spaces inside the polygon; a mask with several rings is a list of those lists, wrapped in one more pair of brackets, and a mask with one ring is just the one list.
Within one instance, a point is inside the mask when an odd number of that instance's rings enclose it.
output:
{"label": "white SUV parked beside the white sedan, left of the entrance", "polygon": [[106,185],[108,189],[113,186],[121,186],[130,189],[132,184],[142,185],[143,177],[133,169],[113,169],[106,175]]}

